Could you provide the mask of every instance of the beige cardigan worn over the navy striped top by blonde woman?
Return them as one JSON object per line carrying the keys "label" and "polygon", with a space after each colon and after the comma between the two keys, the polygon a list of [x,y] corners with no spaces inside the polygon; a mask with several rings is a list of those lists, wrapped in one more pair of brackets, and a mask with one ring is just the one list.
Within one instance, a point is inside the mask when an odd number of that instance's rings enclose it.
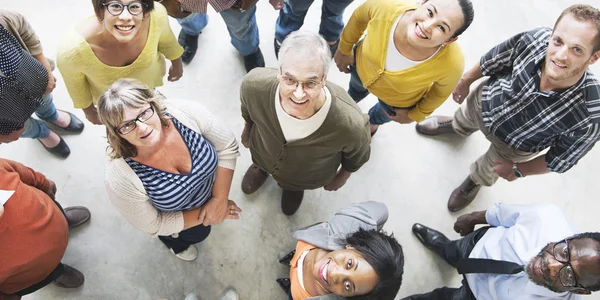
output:
{"label": "beige cardigan worn over the navy striped top by blonde woman", "polygon": [[[239,156],[235,136],[218,122],[203,106],[165,103],[167,111],[186,127],[200,133],[217,151],[218,166],[235,169]],[[192,104],[192,103],[190,103]],[[142,181],[123,158],[108,161],[104,171],[104,183],[108,197],[117,210],[133,226],[152,236],[171,235],[183,230],[183,212],[158,211],[148,197]]]}

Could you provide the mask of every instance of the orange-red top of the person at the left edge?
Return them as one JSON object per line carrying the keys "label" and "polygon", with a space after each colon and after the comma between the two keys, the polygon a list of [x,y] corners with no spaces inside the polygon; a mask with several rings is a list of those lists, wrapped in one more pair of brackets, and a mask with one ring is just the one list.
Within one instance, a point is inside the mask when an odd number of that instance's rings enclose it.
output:
{"label": "orange-red top of the person at the left edge", "polygon": [[0,159],[0,190],[14,191],[0,217],[0,294],[12,294],[42,281],[65,253],[67,219],[42,192],[49,184],[44,175]]}

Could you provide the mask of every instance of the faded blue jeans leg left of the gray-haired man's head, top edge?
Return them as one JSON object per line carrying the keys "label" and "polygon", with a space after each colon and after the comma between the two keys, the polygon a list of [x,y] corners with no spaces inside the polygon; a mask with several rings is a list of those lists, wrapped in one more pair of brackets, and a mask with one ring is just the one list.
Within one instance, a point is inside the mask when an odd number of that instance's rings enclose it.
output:
{"label": "faded blue jeans leg left of the gray-haired man's head, top edge", "polygon": [[258,51],[258,25],[256,25],[256,5],[245,12],[226,9],[221,12],[221,17],[227,25],[231,44],[243,56]]}

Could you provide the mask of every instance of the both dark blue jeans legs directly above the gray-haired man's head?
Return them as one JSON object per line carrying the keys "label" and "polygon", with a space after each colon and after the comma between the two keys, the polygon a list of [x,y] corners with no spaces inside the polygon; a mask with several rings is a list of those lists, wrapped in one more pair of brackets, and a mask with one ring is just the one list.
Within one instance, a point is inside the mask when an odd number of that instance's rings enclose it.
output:
{"label": "both dark blue jeans legs directly above the gray-haired man's head", "polygon": [[[279,11],[277,23],[275,23],[275,39],[283,42],[286,36],[296,31],[304,24],[304,17],[313,0],[286,0],[285,5]],[[319,34],[326,41],[334,42],[340,38],[344,29],[343,14],[352,0],[323,0],[321,7],[321,25]]]}

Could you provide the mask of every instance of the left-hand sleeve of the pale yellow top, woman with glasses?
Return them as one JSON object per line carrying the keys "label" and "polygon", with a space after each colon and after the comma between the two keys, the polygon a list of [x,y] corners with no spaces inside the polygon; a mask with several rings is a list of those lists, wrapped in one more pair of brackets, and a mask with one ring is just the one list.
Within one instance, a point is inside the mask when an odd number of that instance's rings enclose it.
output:
{"label": "left-hand sleeve of the pale yellow top, woman with glasses", "polygon": [[69,96],[71,96],[73,107],[83,109],[92,105],[93,101],[89,83],[80,69],[81,66],[85,66],[84,62],[88,59],[81,56],[81,53],[84,53],[81,41],[82,38],[72,29],[58,48],[56,65],[65,82]]}

